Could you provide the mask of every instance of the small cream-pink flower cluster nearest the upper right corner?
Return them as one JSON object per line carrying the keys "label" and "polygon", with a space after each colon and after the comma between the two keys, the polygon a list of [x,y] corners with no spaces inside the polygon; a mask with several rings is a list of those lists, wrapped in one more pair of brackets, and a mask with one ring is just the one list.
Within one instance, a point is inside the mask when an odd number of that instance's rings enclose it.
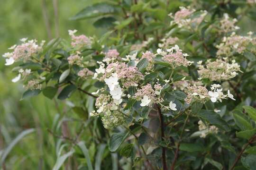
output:
{"label": "small cream-pink flower cluster nearest the upper right corner", "polygon": [[238,26],[235,26],[235,24],[238,22],[236,18],[229,18],[229,15],[227,13],[224,14],[223,19],[220,20],[220,33],[229,33],[235,30],[240,29]]}

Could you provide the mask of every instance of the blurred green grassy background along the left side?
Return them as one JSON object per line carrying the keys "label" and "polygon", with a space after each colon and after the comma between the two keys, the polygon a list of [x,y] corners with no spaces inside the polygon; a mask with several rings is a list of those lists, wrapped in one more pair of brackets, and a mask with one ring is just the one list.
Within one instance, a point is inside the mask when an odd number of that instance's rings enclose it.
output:
{"label": "blurred green grassy background along the left side", "polygon": [[[72,21],[82,8],[101,0],[55,0],[58,8],[59,36],[69,40],[68,30],[77,29],[78,34],[100,36],[103,29],[94,29],[93,20]],[[19,39],[37,39],[49,41],[56,34],[56,16],[54,0],[1,0],[0,5],[0,55],[19,42]],[[47,13],[48,19],[44,17]],[[49,30],[46,29],[46,20]],[[50,34],[49,34],[50,32]],[[0,155],[20,132],[28,128],[36,128],[36,133],[21,139],[10,151],[6,161],[6,170],[52,169],[56,161],[55,141],[47,129],[51,129],[59,115],[54,101],[42,94],[31,99],[20,101],[24,89],[21,83],[12,83],[16,76],[12,67],[4,66],[4,58],[0,57]],[[59,103],[61,110],[65,109]],[[67,111],[67,114],[72,114]],[[1,156],[0,156],[1,158]],[[1,159],[0,159],[1,161]],[[21,167],[22,166],[22,167]],[[37,168],[36,168],[37,167]]]}

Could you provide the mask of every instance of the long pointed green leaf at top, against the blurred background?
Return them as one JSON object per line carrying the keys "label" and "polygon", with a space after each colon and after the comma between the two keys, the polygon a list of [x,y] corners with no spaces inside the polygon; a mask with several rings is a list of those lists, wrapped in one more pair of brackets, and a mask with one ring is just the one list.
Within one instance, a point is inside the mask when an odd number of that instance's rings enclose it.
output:
{"label": "long pointed green leaf at top, against the blurred background", "polygon": [[79,20],[91,17],[99,17],[107,14],[113,14],[117,12],[117,8],[107,2],[96,3],[91,6],[88,6],[78,12],[74,17],[71,17],[72,20]]}

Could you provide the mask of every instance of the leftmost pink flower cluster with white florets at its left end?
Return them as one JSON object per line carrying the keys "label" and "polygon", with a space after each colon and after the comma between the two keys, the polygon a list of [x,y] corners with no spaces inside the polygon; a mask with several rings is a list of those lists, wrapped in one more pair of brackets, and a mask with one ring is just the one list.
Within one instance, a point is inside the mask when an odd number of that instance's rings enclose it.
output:
{"label": "leftmost pink flower cluster with white florets at its left end", "polygon": [[37,53],[42,51],[42,47],[45,41],[42,41],[40,45],[37,44],[37,40],[28,40],[27,38],[20,39],[22,44],[13,45],[9,50],[13,52],[7,52],[3,54],[3,57],[6,58],[6,66],[12,65],[15,61],[23,59],[25,61],[31,59],[32,56],[35,56]]}

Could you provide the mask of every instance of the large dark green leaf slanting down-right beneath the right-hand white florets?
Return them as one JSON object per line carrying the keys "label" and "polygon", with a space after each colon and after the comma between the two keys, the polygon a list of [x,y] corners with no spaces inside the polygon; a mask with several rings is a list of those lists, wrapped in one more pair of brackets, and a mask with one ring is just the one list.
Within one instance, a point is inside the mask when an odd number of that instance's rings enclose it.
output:
{"label": "large dark green leaf slanting down-right beneath the right-hand white florets", "polygon": [[220,118],[219,114],[215,113],[213,110],[200,110],[198,116],[206,119],[210,124],[215,125],[223,130],[229,131],[229,124]]}

